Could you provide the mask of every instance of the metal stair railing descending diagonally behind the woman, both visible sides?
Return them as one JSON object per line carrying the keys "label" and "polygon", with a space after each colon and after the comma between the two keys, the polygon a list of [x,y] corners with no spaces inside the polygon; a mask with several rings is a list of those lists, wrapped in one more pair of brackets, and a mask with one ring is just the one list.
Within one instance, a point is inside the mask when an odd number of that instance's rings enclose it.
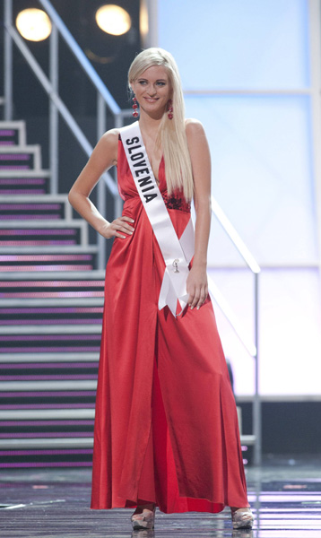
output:
{"label": "metal stair railing descending diagonally behind the woman, both visible sides", "polygon": [[[97,138],[106,131],[106,110],[114,118],[114,125],[121,127],[124,124],[124,119],[131,115],[130,110],[121,110],[116,100],[112,97],[105,84],[101,81],[100,76],[92,67],[87,56],[79,47],[70,31],[65,26],[55,8],[48,0],[38,0],[39,4],[48,13],[52,22],[52,32],[50,35],[49,46],[49,78],[44,73],[35,56],[32,55],[25,41],[13,26],[13,0],[4,0],[4,119],[10,120],[13,117],[13,43],[20,50],[22,56],[30,65],[31,70],[38,78],[40,84],[48,94],[50,100],[50,115],[49,115],[49,159],[51,170],[51,194],[56,194],[58,191],[58,124],[57,119],[60,114],[65,120],[66,125],[71,130],[72,134],[81,145],[83,152],[89,157],[92,152],[91,143],[83,134],[82,129],[78,126],[73,115],[65,106],[64,101],[58,94],[58,38],[59,36],[65,40],[66,45],[74,54],[75,59],[81,65],[82,71],[88,76],[97,91]],[[114,199],[114,213],[120,214],[122,211],[122,200],[117,191],[117,184],[112,176],[105,172],[102,180],[98,183],[98,210],[101,214],[106,214],[106,187],[108,192]],[[234,246],[239,250],[239,254],[245,260],[247,266],[251,270],[255,279],[255,301],[254,301],[254,343],[244,333],[244,330],[239,325],[237,317],[231,311],[229,305],[222,297],[221,292],[215,286],[213,280],[209,278],[209,289],[213,294],[213,298],[221,308],[224,316],[229,321],[234,332],[239,336],[239,340],[247,349],[247,352],[255,360],[255,395],[253,402],[253,431],[255,437],[255,454],[254,463],[261,463],[261,402],[258,389],[258,311],[259,311],[259,273],[260,267],[257,265],[255,258],[251,255],[239,234],[233,228],[226,215],[222,212],[221,207],[212,197],[212,211],[215,217],[220,222],[223,230],[226,231]],[[106,239],[98,235],[98,267],[104,269],[106,265]]]}

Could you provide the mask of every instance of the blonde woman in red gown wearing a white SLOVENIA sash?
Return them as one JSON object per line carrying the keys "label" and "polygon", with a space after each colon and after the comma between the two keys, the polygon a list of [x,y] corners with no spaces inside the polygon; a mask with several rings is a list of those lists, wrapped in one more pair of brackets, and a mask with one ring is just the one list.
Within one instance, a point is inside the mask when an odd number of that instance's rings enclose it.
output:
{"label": "blonde woman in red gown wearing a white SLOVENIA sash", "polygon": [[[234,528],[252,526],[236,407],[207,291],[211,164],[204,128],[185,120],[178,67],[165,50],[136,56],[128,82],[134,117],[140,108],[135,135],[104,134],[69,194],[95,230],[115,238],[106,270],[91,508],[135,507],[139,529],[153,527],[156,506],[166,513],[230,506]],[[89,195],[113,165],[125,204],[122,216],[108,222]],[[163,242],[152,210],[157,196]],[[167,239],[170,228],[175,237]],[[171,242],[185,257],[169,264],[164,251]],[[176,290],[176,278],[185,278],[187,295]]]}

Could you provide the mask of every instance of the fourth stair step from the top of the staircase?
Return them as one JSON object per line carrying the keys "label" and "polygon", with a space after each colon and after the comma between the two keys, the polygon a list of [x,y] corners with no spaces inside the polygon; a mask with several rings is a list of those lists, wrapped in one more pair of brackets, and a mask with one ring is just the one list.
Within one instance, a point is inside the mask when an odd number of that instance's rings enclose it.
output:
{"label": "fourth stair step from the top of the staircase", "polygon": [[66,195],[0,195],[0,221],[71,220],[71,205]]}

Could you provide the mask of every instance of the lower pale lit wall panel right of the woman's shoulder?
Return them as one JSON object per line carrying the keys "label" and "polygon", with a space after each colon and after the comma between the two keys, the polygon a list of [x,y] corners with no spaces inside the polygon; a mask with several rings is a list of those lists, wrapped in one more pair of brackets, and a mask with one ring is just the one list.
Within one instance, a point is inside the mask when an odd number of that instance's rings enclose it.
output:
{"label": "lower pale lit wall panel right of the woman's shoulder", "polygon": [[[187,96],[186,104],[209,139],[213,195],[258,262],[316,261],[308,98]],[[221,263],[239,259],[220,232],[213,240]]]}

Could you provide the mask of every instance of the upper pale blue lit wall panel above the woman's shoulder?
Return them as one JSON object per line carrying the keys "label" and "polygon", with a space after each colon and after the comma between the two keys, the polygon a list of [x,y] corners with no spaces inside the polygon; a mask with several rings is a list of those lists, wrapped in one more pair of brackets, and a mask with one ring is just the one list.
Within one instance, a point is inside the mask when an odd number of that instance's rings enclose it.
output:
{"label": "upper pale blue lit wall panel above the woman's shoulder", "polygon": [[308,85],[307,0],[158,0],[186,89]]}

